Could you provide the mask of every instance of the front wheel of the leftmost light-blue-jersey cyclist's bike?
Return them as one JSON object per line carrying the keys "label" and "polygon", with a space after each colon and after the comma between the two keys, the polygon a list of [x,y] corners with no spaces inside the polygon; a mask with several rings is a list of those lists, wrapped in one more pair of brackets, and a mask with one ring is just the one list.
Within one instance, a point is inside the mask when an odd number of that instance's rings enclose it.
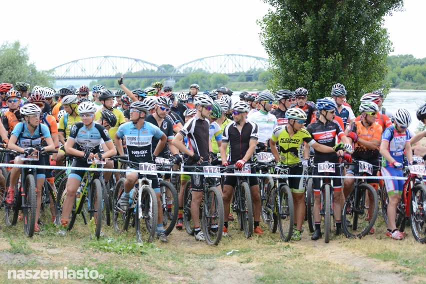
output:
{"label": "front wheel of the leftmost light-blue-jersey cyclist's bike", "polygon": [[34,176],[27,174],[25,177],[25,206],[22,208],[22,212],[23,229],[29,237],[34,234],[36,202]]}

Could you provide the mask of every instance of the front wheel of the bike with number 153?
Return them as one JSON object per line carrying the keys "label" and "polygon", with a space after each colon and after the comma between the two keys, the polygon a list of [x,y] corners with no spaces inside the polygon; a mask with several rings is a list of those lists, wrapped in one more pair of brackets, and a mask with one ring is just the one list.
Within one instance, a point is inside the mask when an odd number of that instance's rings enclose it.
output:
{"label": "front wheel of the bike with number 153", "polygon": [[279,235],[283,241],[289,241],[293,233],[294,207],[290,187],[282,184],[279,187],[277,221]]}

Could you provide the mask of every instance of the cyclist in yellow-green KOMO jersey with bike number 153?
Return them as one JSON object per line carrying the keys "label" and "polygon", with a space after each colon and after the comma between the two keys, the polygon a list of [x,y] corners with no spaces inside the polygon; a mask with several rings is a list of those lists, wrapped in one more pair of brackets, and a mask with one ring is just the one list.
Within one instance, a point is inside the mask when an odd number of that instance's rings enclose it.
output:
{"label": "cyclist in yellow-green KOMO jersey with bike number 153", "polygon": [[[284,165],[302,163],[303,167],[290,167],[289,174],[307,175],[306,167],[309,166],[309,151],[302,152],[303,142],[317,151],[323,153],[334,152],[332,147],[316,143],[310,133],[303,128],[306,123],[306,112],[298,107],[293,107],[285,112],[287,123],[278,125],[273,129],[270,139],[270,150],[276,162]],[[278,145],[278,148],[276,147]],[[279,152],[278,152],[279,149]],[[288,177],[288,186],[291,189],[294,207],[294,231],[292,240],[300,240],[302,223],[305,214],[304,204],[304,177]]]}

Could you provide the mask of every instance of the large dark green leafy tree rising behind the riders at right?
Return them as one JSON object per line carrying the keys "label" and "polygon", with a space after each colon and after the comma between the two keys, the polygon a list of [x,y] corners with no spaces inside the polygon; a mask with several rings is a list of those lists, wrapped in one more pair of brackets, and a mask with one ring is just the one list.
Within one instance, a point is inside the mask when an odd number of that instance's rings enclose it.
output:
{"label": "large dark green leafy tree rising behind the riders at right", "polygon": [[258,21],[273,76],[269,89],[304,86],[315,99],[339,82],[356,109],[363,93],[388,87],[392,48],[383,16],[403,0],[264,1],[276,8]]}

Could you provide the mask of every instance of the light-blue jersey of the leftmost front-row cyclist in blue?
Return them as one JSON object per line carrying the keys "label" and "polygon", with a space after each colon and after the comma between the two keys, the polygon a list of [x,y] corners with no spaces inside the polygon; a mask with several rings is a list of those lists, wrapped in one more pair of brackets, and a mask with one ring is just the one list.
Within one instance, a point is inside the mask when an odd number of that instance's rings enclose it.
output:
{"label": "light-blue jersey of the leftmost front-row cyclist in blue", "polygon": [[44,138],[51,137],[49,128],[41,123],[38,124],[34,133],[32,133],[31,135],[26,125],[26,122],[17,123],[16,126],[13,128],[11,135],[15,135],[17,137],[17,144],[22,148],[35,147],[37,145],[40,145]]}

